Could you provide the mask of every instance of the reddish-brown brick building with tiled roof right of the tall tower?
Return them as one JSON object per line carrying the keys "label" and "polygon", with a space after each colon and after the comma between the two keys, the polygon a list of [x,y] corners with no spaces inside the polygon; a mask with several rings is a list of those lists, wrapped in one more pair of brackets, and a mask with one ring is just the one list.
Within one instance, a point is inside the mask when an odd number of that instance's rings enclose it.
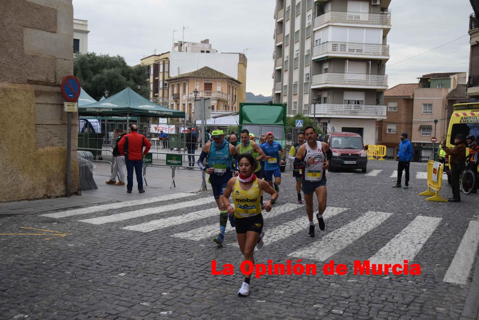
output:
{"label": "reddish-brown brick building with tiled roof right of the tall tower", "polygon": [[384,92],[387,119],[378,122],[377,144],[386,146],[386,156],[395,158],[399,151],[401,133],[412,133],[414,90],[417,83],[398,84]]}

